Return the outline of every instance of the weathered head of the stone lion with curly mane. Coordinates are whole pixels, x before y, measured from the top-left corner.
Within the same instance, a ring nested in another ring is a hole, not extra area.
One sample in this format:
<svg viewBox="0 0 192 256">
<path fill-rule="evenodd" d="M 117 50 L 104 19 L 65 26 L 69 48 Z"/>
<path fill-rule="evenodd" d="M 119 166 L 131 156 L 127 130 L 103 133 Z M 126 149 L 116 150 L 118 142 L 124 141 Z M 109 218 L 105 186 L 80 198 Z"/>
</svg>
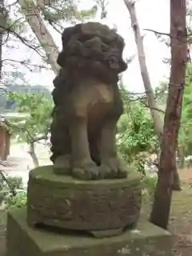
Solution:
<svg viewBox="0 0 192 256">
<path fill-rule="evenodd" d="M 58 65 L 83 74 L 119 74 L 126 70 L 122 59 L 123 38 L 98 22 L 68 27 L 62 33 Z"/>
</svg>

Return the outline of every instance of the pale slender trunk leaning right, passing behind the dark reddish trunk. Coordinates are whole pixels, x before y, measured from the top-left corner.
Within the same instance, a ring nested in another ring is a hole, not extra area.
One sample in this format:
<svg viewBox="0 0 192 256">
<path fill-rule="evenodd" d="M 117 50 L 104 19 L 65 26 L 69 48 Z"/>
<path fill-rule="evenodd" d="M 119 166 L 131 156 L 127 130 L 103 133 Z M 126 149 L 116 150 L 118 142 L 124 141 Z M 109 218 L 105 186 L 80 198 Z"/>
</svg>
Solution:
<svg viewBox="0 0 192 256">
<path fill-rule="evenodd" d="M 144 51 L 142 34 L 138 24 L 138 18 L 137 18 L 135 6 L 134 6 L 134 1 L 124 0 L 124 2 L 126 4 L 127 10 L 129 10 L 129 13 L 130 13 L 131 26 L 134 31 L 134 39 L 138 49 L 138 61 L 139 61 L 139 66 L 142 74 L 142 81 L 146 90 L 146 97 L 148 101 L 148 106 L 150 107 L 150 114 L 154 122 L 154 130 L 156 134 L 158 134 L 159 145 L 160 145 L 162 133 L 163 133 L 163 121 L 160 114 L 158 113 L 158 106 L 154 99 L 154 90 L 150 83 L 150 76 L 146 66 L 146 54 Z M 173 180 L 173 186 L 172 186 L 173 190 L 175 187 L 178 187 L 178 184 L 180 184 L 177 168 L 175 169 L 175 172 L 177 174 L 174 174 L 174 180 Z"/>
</svg>

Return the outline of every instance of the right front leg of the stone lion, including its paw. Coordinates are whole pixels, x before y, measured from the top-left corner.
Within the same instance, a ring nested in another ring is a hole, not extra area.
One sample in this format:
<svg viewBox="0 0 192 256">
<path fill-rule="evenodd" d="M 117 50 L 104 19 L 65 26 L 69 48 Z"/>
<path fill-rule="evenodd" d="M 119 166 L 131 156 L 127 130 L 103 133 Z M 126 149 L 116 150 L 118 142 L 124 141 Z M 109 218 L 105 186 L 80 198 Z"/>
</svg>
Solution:
<svg viewBox="0 0 192 256">
<path fill-rule="evenodd" d="M 126 162 L 118 158 L 115 142 L 117 119 L 107 120 L 102 126 L 101 166 L 102 178 L 126 178 Z"/>
</svg>

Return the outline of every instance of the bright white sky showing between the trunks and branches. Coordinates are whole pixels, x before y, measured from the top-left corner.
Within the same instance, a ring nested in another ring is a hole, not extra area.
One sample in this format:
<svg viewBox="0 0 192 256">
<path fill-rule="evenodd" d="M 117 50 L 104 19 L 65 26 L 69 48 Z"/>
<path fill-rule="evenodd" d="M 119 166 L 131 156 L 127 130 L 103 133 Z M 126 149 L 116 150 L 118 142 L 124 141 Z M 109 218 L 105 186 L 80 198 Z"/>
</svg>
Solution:
<svg viewBox="0 0 192 256">
<path fill-rule="evenodd" d="M 88 9 L 94 5 L 94 0 L 81 0 L 79 8 Z M 159 32 L 167 33 L 170 30 L 170 6 L 167 0 L 138 0 L 136 3 L 136 11 L 138 15 L 138 22 L 144 35 L 144 47 L 146 53 L 146 64 L 150 74 L 150 81 L 152 86 L 158 86 L 159 82 L 169 77 L 170 68 L 162 62 L 162 58 L 169 57 L 170 50 L 162 43 L 159 42 L 153 32 L 146 31 L 145 29 L 156 30 Z M 116 26 L 118 34 L 124 38 L 126 46 L 123 52 L 124 58 L 129 58 L 136 54 L 134 60 L 128 66 L 128 69 L 123 73 L 123 82 L 128 90 L 135 93 L 144 91 L 142 78 L 140 74 L 137 48 L 134 42 L 134 33 L 130 26 L 130 15 L 123 0 L 109 0 L 107 6 L 107 18 L 100 20 L 99 15 L 95 21 L 102 22 L 111 28 Z M 62 39 L 61 34 L 55 32 L 50 28 L 50 32 L 54 37 L 54 41 L 61 50 Z M 21 54 L 22 53 L 22 54 Z M 6 50 L 5 55 L 10 55 L 10 50 Z M 22 50 L 19 45 L 18 49 L 14 49 L 14 56 L 18 59 L 30 58 L 34 63 L 41 64 L 42 60 L 37 54 L 32 53 L 26 48 Z M 31 84 L 41 84 L 48 89 L 53 89 L 52 81 L 54 73 L 50 70 L 41 70 L 41 72 L 33 72 L 25 70 L 26 80 Z"/>
</svg>

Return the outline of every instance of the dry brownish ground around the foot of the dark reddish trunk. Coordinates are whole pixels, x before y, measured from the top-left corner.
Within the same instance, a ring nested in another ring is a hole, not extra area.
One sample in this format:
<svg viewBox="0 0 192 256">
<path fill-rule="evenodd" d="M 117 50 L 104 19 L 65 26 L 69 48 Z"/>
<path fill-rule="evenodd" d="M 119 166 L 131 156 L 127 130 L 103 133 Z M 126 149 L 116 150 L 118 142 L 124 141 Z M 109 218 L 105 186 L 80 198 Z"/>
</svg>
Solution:
<svg viewBox="0 0 192 256">
<path fill-rule="evenodd" d="M 179 171 L 182 191 L 174 191 L 168 230 L 174 235 L 174 256 L 192 255 L 192 168 Z M 152 205 L 148 195 L 143 197 L 142 218 L 148 219 Z"/>
</svg>

